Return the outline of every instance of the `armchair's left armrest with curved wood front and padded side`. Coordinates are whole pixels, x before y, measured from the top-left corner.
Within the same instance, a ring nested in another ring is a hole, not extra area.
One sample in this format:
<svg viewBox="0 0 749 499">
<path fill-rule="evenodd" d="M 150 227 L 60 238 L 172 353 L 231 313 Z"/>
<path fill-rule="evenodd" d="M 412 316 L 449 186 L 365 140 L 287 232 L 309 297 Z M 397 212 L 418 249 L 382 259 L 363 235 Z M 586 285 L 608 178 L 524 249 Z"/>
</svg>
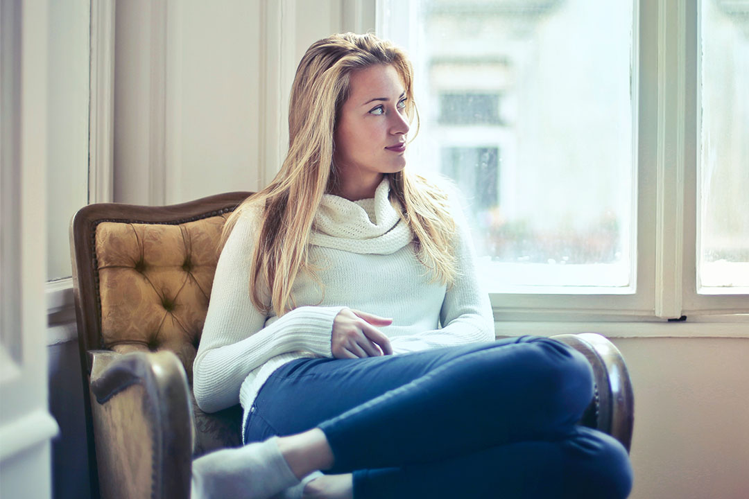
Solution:
<svg viewBox="0 0 749 499">
<path fill-rule="evenodd" d="M 92 352 L 91 413 L 102 498 L 189 499 L 192 408 L 172 352 Z"/>
</svg>

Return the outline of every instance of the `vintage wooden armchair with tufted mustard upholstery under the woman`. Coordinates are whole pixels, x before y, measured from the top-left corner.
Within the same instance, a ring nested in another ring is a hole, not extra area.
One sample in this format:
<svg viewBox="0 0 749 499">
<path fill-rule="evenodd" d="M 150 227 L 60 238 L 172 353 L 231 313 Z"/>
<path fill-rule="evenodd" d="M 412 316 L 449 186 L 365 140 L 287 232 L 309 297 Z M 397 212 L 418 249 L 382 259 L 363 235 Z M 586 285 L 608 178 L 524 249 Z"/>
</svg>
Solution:
<svg viewBox="0 0 749 499">
<path fill-rule="evenodd" d="M 205 414 L 192 396 L 217 243 L 249 192 L 173 206 L 100 203 L 73 217 L 70 245 L 91 491 L 102 498 L 189 498 L 191 462 L 240 445 L 239 405 Z M 598 334 L 557 340 L 593 366 L 596 396 L 581 423 L 629 449 L 630 379 Z"/>
</svg>

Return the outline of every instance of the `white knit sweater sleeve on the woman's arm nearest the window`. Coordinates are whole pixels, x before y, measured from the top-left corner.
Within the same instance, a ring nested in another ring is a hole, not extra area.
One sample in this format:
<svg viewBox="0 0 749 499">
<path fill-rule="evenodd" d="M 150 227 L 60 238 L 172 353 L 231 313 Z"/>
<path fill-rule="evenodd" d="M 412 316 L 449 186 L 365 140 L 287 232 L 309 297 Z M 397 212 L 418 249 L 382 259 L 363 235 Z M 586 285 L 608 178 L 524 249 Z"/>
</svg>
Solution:
<svg viewBox="0 0 749 499">
<path fill-rule="evenodd" d="M 457 272 L 440 309 L 439 329 L 392 339 L 393 353 L 419 352 L 440 346 L 494 341 L 494 316 L 488 294 L 479 286 L 470 230 L 457 200 L 453 199 Z"/>
</svg>

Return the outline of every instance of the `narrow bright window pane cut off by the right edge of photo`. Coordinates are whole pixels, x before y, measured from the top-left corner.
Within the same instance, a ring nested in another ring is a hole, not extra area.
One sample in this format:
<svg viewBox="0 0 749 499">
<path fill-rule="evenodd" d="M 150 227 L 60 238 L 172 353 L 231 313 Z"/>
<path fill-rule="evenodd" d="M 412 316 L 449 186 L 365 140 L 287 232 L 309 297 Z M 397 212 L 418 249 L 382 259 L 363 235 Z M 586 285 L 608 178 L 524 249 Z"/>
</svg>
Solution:
<svg viewBox="0 0 749 499">
<path fill-rule="evenodd" d="M 749 0 L 701 7 L 698 281 L 700 293 L 748 293 Z"/>
</svg>

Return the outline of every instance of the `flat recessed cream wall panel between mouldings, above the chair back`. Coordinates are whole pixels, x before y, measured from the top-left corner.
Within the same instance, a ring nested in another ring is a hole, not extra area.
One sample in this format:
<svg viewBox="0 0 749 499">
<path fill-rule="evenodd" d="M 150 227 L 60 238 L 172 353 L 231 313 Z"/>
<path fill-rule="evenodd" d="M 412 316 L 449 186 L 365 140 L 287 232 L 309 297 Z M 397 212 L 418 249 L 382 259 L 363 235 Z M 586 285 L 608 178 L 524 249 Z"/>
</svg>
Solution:
<svg viewBox="0 0 749 499">
<path fill-rule="evenodd" d="M 166 202 L 258 189 L 258 1 L 170 2 Z"/>
</svg>

